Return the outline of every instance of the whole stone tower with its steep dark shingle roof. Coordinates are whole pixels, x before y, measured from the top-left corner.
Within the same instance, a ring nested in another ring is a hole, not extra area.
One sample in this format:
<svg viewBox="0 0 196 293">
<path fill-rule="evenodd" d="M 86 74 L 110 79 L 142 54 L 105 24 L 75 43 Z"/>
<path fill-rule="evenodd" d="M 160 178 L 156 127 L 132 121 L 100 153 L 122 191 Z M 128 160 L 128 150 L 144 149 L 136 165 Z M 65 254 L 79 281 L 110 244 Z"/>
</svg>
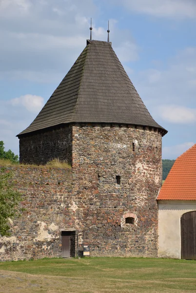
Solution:
<svg viewBox="0 0 196 293">
<path fill-rule="evenodd" d="M 22 131 L 20 162 L 72 165 L 78 251 L 157 256 L 161 138 L 110 42 L 90 41 Z M 69 229 L 69 227 L 67 227 Z"/>
</svg>

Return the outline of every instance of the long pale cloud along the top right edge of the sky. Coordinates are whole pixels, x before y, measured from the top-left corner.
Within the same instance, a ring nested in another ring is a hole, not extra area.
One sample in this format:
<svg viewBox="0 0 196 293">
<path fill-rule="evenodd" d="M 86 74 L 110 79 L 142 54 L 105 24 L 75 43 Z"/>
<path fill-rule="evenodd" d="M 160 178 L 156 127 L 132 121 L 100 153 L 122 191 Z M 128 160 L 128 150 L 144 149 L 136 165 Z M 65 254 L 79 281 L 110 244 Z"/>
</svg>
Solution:
<svg viewBox="0 0 196 293">
<path fill-rule="evenodd" d="M 155 17 L 196 17 L 195 0 L 121 0 L 120 3 L 131 12 L 135 11 Z"/>
</svg>

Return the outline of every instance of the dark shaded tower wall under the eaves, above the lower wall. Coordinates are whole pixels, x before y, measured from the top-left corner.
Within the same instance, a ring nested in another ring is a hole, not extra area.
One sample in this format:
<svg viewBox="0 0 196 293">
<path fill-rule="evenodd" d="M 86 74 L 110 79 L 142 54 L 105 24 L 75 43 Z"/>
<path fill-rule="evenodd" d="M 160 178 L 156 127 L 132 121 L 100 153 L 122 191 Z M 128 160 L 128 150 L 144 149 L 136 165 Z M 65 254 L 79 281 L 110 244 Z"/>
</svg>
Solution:
<svg viewBox="0 0 196 293">
<path fill-rule="evenodd" d="M 45 165 L 55 158 L 72 163 L 72 126 L 20 137 L 20 163 Z"/>
</svg>

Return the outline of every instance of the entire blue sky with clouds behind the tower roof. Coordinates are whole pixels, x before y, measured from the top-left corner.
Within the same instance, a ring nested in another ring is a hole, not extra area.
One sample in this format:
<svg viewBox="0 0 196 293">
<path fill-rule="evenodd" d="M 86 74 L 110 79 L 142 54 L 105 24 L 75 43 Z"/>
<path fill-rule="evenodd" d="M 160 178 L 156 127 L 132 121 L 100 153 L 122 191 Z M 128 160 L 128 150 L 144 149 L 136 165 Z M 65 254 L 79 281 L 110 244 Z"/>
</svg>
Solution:
<svg viewBox="0 0 196 293">
<path fill-rule="evenodd" d="M 153 118 L 163 158 L 196 143 L 195 0 L 0 0 L 0 140 L 34 120 L 90 36 L 110 41 Z"/>
</svg>

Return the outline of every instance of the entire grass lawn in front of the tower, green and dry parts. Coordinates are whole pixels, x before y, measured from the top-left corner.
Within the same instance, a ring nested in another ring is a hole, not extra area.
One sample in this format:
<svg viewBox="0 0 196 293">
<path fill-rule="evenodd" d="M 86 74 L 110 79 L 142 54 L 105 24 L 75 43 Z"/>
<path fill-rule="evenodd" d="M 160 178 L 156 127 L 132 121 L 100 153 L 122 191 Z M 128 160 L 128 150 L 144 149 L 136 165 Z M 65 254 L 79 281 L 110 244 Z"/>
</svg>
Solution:
<svg viewBox="0 0 196 293">
<path fill-rule="evenodd" d="M 0 293 L 196 292 L 196 261 L 42 259 L 0 263 Z"/>
</svg>

